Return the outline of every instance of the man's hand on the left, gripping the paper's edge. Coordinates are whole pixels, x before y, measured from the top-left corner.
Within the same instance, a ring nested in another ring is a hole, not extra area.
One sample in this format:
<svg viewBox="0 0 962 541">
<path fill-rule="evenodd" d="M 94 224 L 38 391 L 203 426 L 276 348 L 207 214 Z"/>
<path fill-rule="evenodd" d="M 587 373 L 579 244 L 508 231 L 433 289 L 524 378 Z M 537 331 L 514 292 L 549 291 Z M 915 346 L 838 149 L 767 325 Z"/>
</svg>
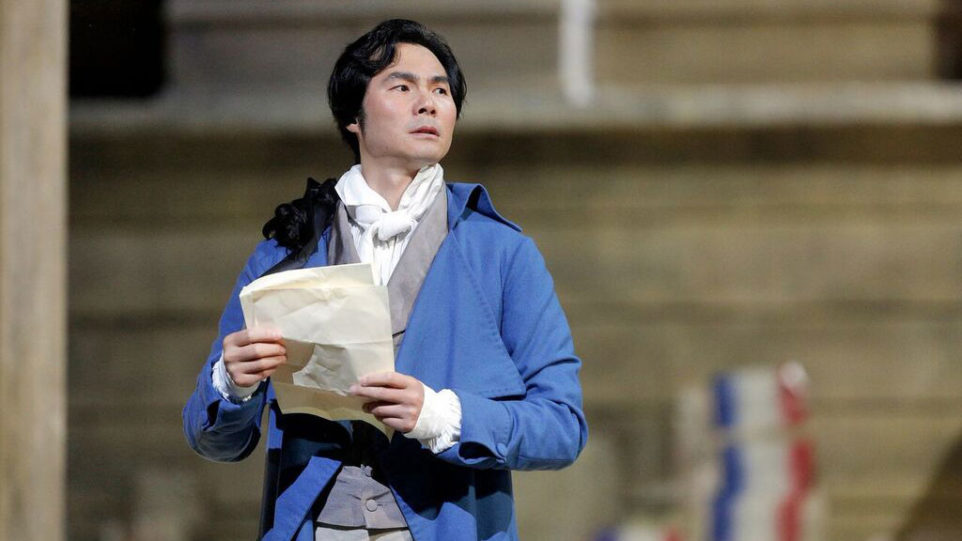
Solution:
<svg viewBox="0 0 962 541">
<path fill-rule="evenodd" d="M 239 387 L 267 379 L 286 361 L 287 349 L 277 329 L 252 327 L 224 337 L 224 368 Z"/>
</svg>

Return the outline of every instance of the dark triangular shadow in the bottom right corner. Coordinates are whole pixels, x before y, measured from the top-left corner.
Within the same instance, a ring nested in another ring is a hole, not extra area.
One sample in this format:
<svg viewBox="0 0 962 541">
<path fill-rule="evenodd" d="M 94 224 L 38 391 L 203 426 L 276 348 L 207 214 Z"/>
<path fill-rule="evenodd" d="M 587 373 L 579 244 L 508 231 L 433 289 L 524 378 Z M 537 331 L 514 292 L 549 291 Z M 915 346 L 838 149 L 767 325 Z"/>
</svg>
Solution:
<svg viewBox="0 0 962 541">
<path fill-rule="evenodd" d="M 899 528 L 898 541 L 957 541 L 962 539 L 962 435 L 935 471 L 925 494 Z"/>
</svg>

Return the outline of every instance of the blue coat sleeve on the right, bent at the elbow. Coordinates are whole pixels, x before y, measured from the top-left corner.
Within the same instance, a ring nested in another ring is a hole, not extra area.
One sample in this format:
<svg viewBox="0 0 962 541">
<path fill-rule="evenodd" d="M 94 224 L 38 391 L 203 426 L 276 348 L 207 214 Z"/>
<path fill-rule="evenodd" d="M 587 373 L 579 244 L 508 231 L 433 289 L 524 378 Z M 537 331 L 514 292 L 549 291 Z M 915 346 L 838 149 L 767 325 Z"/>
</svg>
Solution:
<svg viewBox="0 0 962 541">
<path fill-rule="evenodd" d="M 501 339 L 525 394 L 492 399 L 454 389 L 461 400 L 461 438 L 438 457 L 477 468 L 562 468 L 577 458 L 588 438 L 578 380 L 581 361 L 534 242 L 520 242 L 503 269 Z"/>
</svg>

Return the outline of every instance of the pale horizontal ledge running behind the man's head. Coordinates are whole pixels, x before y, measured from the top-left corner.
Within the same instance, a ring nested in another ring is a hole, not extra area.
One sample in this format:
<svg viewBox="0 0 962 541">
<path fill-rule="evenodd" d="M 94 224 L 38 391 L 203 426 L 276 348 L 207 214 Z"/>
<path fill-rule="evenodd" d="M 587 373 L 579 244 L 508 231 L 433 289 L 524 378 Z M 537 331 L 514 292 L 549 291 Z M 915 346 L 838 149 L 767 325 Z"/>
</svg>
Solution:
<svg viewBox="0 0 962 541">
<path fill-rule="evenodd" d="M 472 89 L 475 88 L 472 86 Z M 336 140 L 323 89 L 295 87 L 231 87 L 203 91 L 172 89 L 146 101 L 74 100 L 71 131 L 80 138 L 120 136 L 183 138 L 198 135 L 228 138 L 312 137 Z M 945 82 L 828 82 L 760 84 L 671 84 L 604 83 L 595 101 L 587 107 L 572 107 L 560 90 L 498 87 L 472 92 L 457 126 L 452 156 L 457 156 L 466 137 L 476 136 L 495 144 L 509 137 L 557 137 L 582 134 L 598 138 L 620 134 L 648 133 L 664 137 L 678 133 L 668 149 L 635 147 L 639 158 L 690 159 L 705 155 L 718 160 L 745 148 L 706 145 L 706 135 L 726 130 L 761 132 L 754 144 L 763 150 L 777 144 L 800 144 L 805 153 L 845 155 L 855 152 L 879 159 L 911 156 L 907 152 L 945 155 L 941 146 L 904 145 L 906 135 L 944 140 L 947 130 L 962 122 L 962 93 L 956 83 Z M 882 129 L 884 128 L 884 129 Z M 810 140 L 812 133 L 837 131 L 831 147 Z M 876 140 L 859 140 L 851 147 L 849 137 L 875 129 Z M 915 130 L 912 133 L 911 130 Z M 918 133 L 919 130 L 924 130 Z M 708 132 L 708 133 L 701 133 Z M 491 138 L 491 135 L 498 138 Z M 699 137 L 700 136 L 700 137 Z M 795 140 L 793 141 L 792 138 Z M 798 140 L 798 139 L 802 140 Z M 548 139 L 549 141 L 551 139 Z M 768 142 L 770 141 L 770 142 Z M 651 141 L 660 143 L 661 141 Z M 507 140 L 505 148 L 518 153 Z M 812 146 L 814 144 L 814 146 Z M 868 145 L 868 146 L 866 146 Z M 592 145 L 571 150 L 581 156 Z M 614 147 L 600 152 L 607 155 Z M 670 153 L 665 154 L 666 150 Z M 927 154 L 927 155 L 928 155 Z M 349 155 L 338 151 L 341 161 Z M 786 154 L 786 157 L 797 154 Z M 954 156 L 953 156 L 954 157 Z"/>
</svg>

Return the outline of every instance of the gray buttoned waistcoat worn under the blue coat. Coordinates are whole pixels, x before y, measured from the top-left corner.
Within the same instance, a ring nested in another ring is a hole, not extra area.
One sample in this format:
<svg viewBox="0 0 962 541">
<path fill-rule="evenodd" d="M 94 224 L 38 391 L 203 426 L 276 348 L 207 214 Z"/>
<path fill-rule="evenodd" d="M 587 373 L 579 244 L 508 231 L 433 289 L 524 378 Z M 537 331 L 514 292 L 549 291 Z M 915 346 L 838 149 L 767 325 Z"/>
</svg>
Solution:
<svg viewBox="0 0 962 541">
<path fill-rule="evenodd" d="M 447 215 L 447 196 L 442 190 L 411 234 L 411 240 L 388 280 L 395 353 L 404 337 L 414 299 L 421 290 L 434 255 L 447 235 Z M 338 204 L 331 228 L 328 261 L 334 265 L 360 261 L 343 204 Z M 387 440 L 367 423 L 357 421 L 352 424 L 354 446 L 361 447 L 356 453 L 359 465 L 344 465 L 341 468 L 317 515 L 317 521 L 356 528 L 406 527 L 394 494 L 380 481 L 381 476 L 373 460 L 374 448 L 386 446 Z"/>
</svg>

